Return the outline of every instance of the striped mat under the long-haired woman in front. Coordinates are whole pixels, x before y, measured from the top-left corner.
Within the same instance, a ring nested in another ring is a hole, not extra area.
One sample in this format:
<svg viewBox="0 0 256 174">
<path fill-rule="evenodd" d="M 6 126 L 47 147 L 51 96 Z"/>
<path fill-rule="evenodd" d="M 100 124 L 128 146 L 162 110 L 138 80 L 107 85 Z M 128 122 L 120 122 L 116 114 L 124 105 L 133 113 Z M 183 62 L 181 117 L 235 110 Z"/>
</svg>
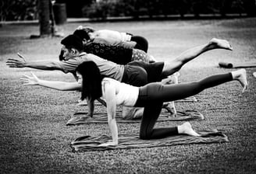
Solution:
<svg viewBox="0 0 256 174">
<path fill-rule="evenodd" d="M 99 137 L 83 136 L 72 141 L 70 147 L 73 152 L 76 151 L 105 151 L 116 149 L 132 149 L 132 148 L 154 148 L 180 144 L 212 144 L 227 142 L 228 137 L 217 130 L 197 131 L 202 134 L 201 137 L 189 136 L 187 134 L 179 134 L 175 136 L 165 137 L 162 139 L 141 140 L 138 134 L 119 134 L 119 144 L 117 146 L 98 147 L 99 144 L 112 141 L 112 137 L 101 135 Z"/>
</svg>

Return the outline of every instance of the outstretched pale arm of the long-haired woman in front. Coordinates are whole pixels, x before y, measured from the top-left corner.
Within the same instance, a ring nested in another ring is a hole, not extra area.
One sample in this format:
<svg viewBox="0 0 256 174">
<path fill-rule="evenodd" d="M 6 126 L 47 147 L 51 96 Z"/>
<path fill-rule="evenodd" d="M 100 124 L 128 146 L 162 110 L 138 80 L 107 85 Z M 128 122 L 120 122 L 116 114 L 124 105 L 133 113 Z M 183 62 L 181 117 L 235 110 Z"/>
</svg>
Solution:
<svg viewBox="0 0 256 174">
<path fill-rule="evenodd" d="M 20 78 L 22 82 L 24 82 L 23 85 L 41 85 L 50 89 L 57 89 L 60 91 L 73 91 L 73 90 L 80 90 L 81 85 L 77 82 L 59 82 L 59 81 L 47 81 L 47 80 L 41 80 L 37 78 L 36 75 L 34 75 L 31 72 L 32 76 L 24 75 L 25 78 Z"/>
</svg>

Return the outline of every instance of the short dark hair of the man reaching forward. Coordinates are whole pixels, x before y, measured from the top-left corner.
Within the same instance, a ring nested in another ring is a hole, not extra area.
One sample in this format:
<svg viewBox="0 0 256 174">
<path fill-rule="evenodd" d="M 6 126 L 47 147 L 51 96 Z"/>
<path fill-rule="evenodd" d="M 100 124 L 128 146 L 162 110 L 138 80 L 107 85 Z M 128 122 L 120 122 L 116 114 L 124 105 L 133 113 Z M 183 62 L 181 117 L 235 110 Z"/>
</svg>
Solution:
<svg viewBox="0 0 256 174">
<path fill-rule="evenodd" d="M 62 39 L 61 44 L 64 45 L 66 48 L 75 48 L 78 51 L 83 50 L 83 42 L 79 37 L 76 37 L 76 35 L 69 35 Z"/>
</svg>

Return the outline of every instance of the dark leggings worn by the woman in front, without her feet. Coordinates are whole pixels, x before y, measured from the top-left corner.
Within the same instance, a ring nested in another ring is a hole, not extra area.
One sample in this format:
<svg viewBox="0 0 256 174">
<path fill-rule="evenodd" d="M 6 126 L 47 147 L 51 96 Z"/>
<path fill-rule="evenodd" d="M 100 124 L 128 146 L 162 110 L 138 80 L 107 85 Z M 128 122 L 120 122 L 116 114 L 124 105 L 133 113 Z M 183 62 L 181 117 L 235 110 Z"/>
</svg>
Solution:
<svg viewBox="0 0 256 174">
<path fill-rule="evenodd" d="M 162 85 L 150 83 L 140 87 L 135 106 L 144 107 L 140 124 L 141 139 L 157 139 L 178 134 L 177 127 L 154 128 L 162 110 L 162 103 L 194 96 L 204 89 L 232 81 L 231 73 L 212 75 L 197 82 Z"/>
</svg>

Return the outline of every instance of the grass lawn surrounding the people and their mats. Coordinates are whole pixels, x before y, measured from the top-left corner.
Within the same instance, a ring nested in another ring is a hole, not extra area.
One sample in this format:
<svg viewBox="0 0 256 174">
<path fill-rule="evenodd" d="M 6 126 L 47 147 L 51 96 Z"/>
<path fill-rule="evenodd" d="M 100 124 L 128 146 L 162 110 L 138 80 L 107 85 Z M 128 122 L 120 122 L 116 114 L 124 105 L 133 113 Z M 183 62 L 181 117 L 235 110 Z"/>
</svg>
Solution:
<svg viewBox="0 0 256 174">
<path fill-rule="evenodd" d="M 186 64 L 180 82 L 231 71 L 219 61 L 256 62 L 256 18 L 223 20 L 171 20 L 119 23 L 67 23 L 66 35 L 78 25 L 141 35 L 149 41 L 149 54 L 168 61 L 182 51 L 206 44 L 212 37 L 229 40 L 233 51 L 212 50 Z M 218 129 L 229 137 L 222 144 L 188 144 L 162 148 L 73 153 L 69 143 L 84 134 L 110 134 L 107 124 L 67 127 L 66 121 L 86 106 L 76 106 L 79 92 L 59 92 L 23 86 L 22 75 L 73 82 L 61 71 L 8 68 L 7 57 L 20 52 L 27 60 L 58 61 L 62 38 L 30 40 L 37 25 L 0 27 L 0 173 L 255 173 L 256 172 L 256 68 L 247 68 L 249 89 L 238 82 L 207 89 L 197 103 L 176 103 L 177 110 L 198 110 L 206 120 L 190 121 L 195 130 Z M 103 112 L 97 106 L 95 112 Z M 175 126 L 181 121 L 158 123 Z M 139 132 L 139 124 L 119 124 L 119 133 Z"/>
</svg>

